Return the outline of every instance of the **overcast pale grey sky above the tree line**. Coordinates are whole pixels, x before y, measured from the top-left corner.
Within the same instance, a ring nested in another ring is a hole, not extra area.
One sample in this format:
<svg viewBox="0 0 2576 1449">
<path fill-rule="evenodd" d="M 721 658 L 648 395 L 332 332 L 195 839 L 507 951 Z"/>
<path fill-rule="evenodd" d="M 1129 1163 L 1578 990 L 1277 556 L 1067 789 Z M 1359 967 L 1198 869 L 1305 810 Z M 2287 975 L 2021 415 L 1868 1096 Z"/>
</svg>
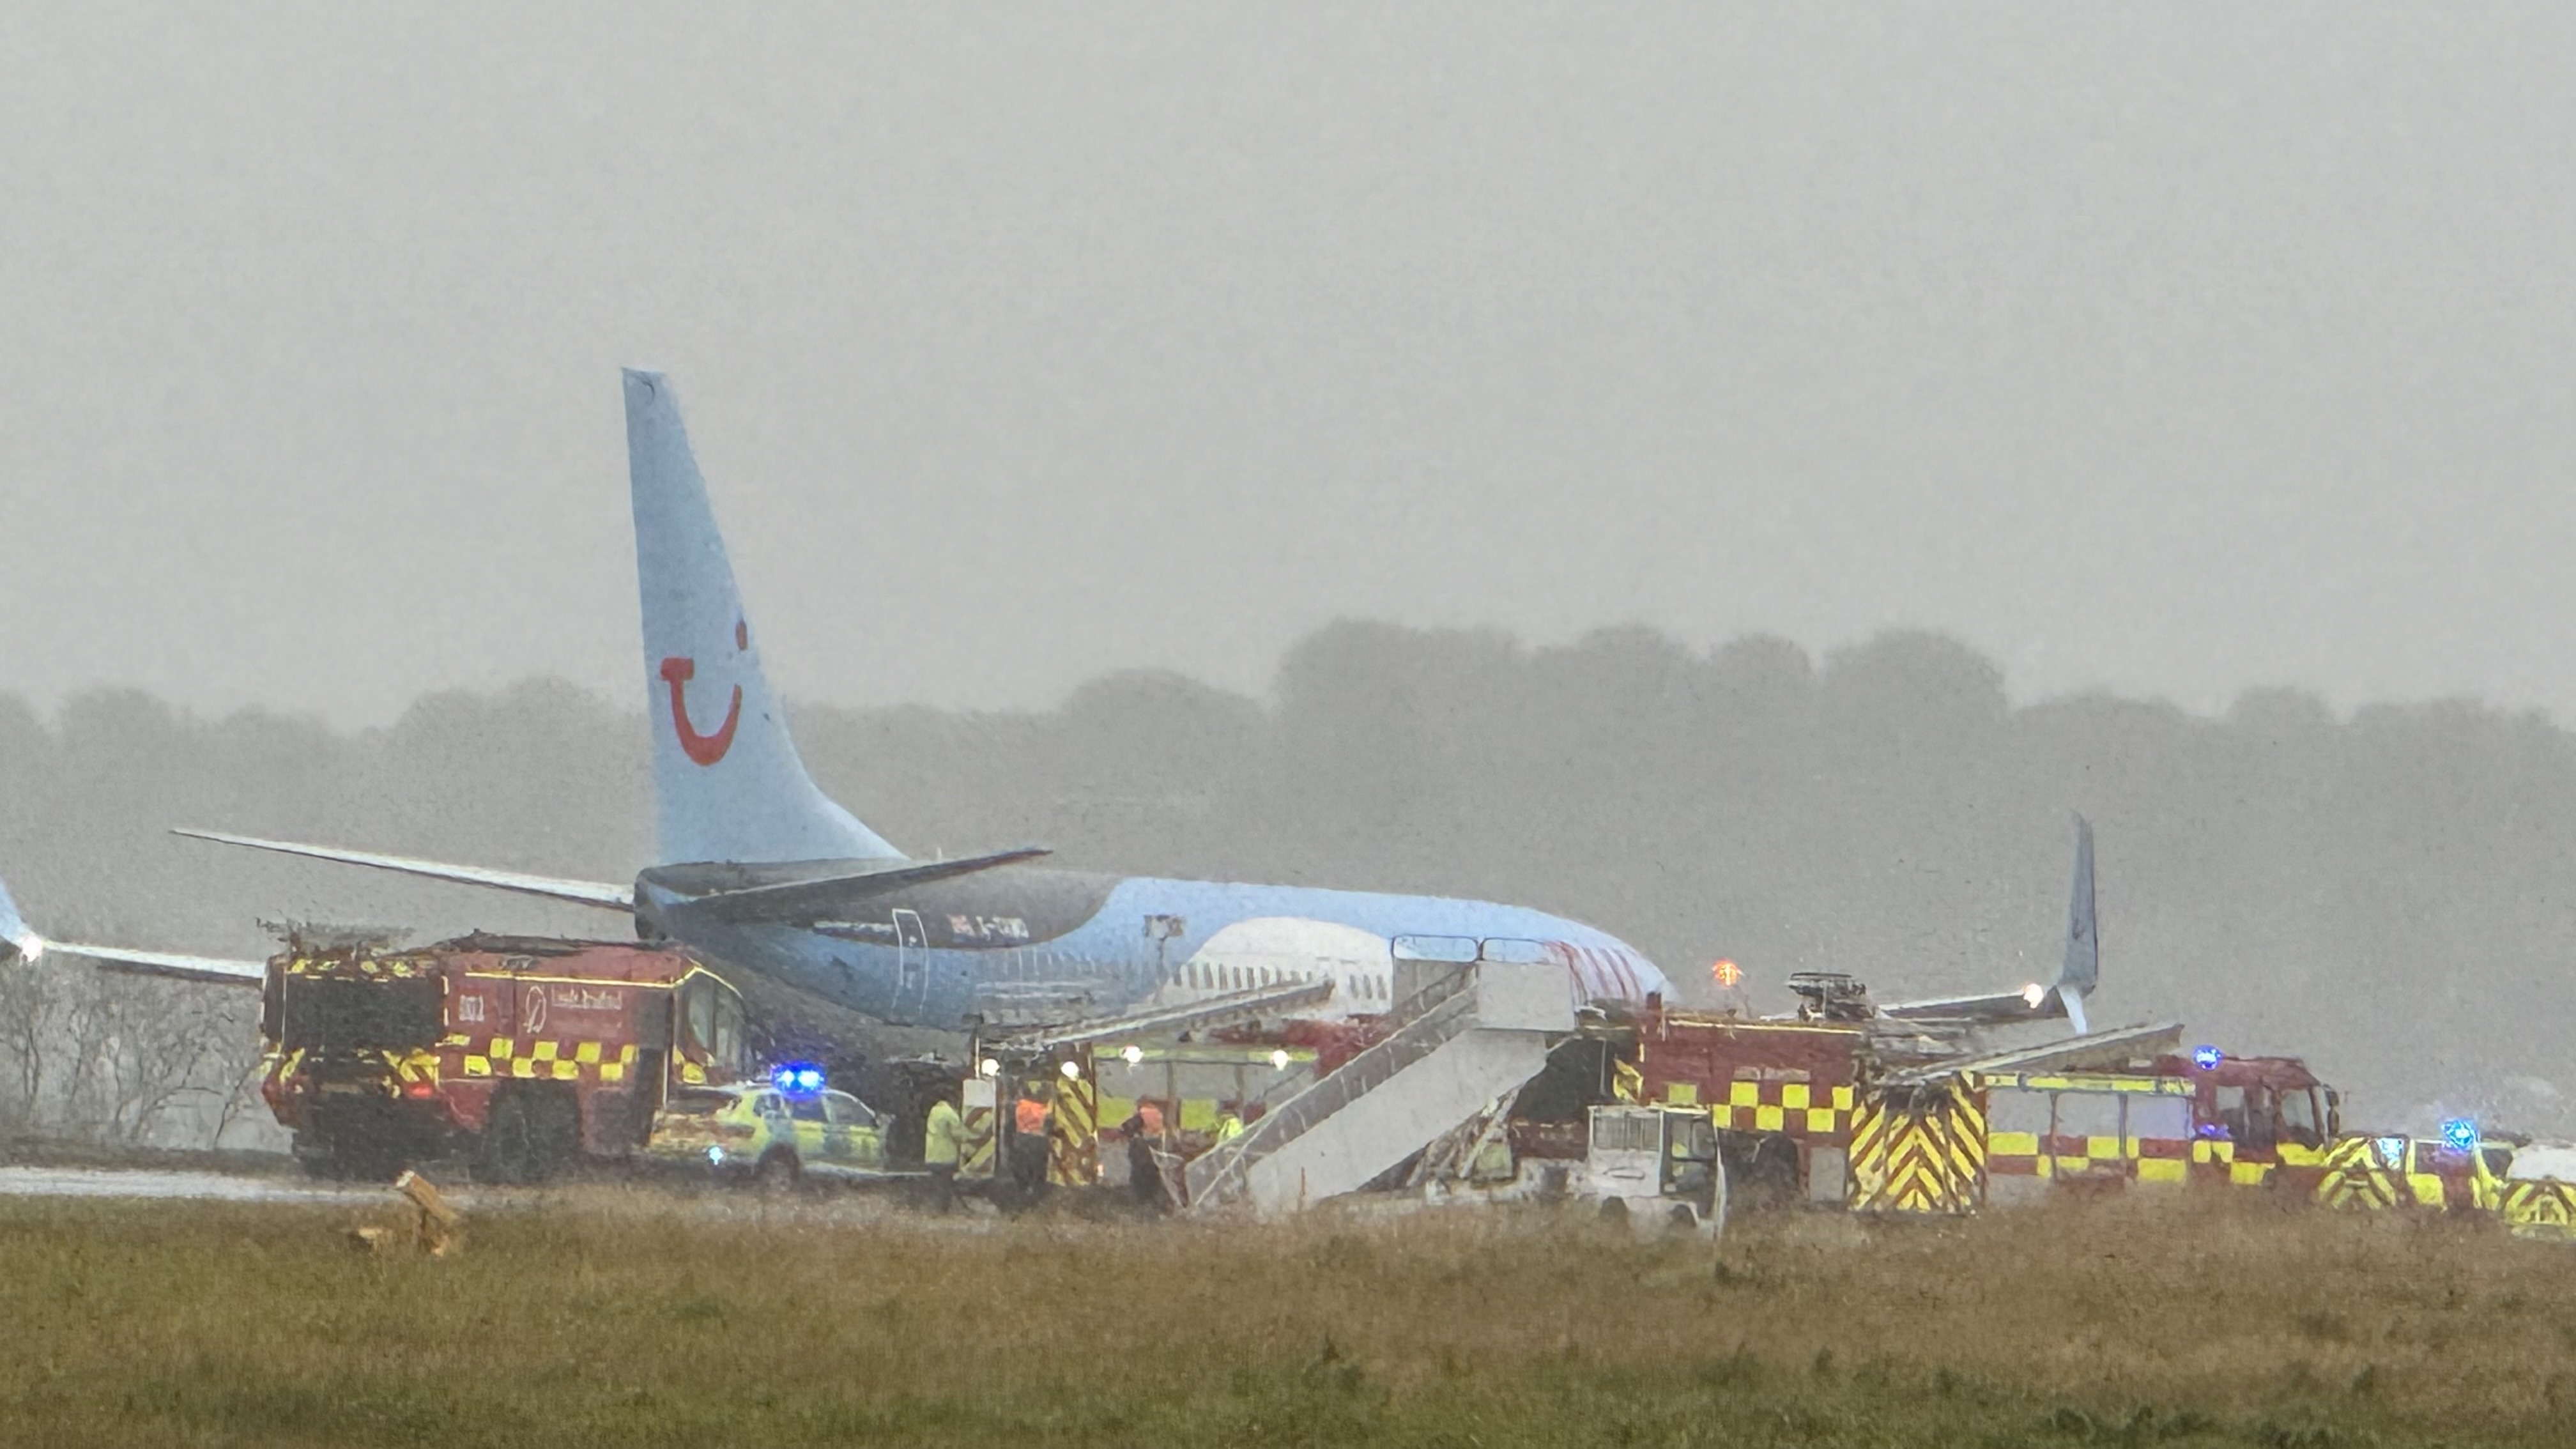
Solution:
<svg viewBox="0 0 2576 1449">
<path fill-rule="evenodd" d="M 2576 719 L 2576 8 L 10 5 L 0 688 L 1953 632 Z M 636 696 L 639 699 L 639 696 Z"/>
</svg>

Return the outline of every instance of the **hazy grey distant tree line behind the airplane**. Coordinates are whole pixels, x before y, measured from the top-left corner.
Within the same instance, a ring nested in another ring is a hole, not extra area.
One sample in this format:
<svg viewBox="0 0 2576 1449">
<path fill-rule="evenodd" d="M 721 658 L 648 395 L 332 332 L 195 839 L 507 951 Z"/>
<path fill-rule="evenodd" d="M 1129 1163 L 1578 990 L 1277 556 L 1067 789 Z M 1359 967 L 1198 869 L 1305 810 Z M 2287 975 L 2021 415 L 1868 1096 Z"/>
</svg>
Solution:
<svg viewBox="0 0 2576 1449">
<path fill-rule="evenodd" d="M 536 681 L 381 730 L 0 696 L 0 874 L 39 923 L 265 954 L 255 918 L 623 933 L 170 825 L 621 879 L 652 856 L 634 706 Z M 2071 815 L 2099 830 L 2097 1024 L 2298 1052 L 2354 1116 L 2478 1111 L 2566 1132 L 2576 740 L 2537 712 L 2257 691 L 2223 717 L 2076 696 L 2014 709 L 1935 634 L 1811 657 L 1646 629 L 1569 647 L 1337 624 L 1273 699 L 1164 673 L 1051 712 L 796 712 L 824 789 L 914 853 L 1515 900 L 1708 964 L 1842 969 L 1883 998 L 2045 980 Z"/>
</svg>

